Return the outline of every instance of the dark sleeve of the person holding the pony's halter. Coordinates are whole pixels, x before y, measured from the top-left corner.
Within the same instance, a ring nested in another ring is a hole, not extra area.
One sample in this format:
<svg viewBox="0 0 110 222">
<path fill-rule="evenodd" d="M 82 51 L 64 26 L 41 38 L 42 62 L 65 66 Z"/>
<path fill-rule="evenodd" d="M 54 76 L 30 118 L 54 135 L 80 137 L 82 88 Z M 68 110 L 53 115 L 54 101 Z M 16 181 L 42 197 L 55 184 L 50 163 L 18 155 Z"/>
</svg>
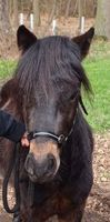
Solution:
<svg viewBox="0 0 110 222">
<path fill-rule="evenodd" d="M 0 137 L 19 142 L 24 132 L 26 127 L 23 123 L 16 121 L 12 115 L 0 110 Z"/>
</svg>

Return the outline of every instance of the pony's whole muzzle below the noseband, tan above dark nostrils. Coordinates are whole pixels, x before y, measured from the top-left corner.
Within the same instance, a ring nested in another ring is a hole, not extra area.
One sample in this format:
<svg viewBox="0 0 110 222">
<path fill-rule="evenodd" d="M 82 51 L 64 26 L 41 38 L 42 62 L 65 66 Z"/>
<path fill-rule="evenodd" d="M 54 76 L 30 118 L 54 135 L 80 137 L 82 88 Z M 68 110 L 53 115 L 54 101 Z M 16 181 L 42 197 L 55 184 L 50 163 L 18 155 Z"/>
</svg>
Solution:
<svg viewBox="0 0 110 222">
<path fill-rule="evenodd" d="M 40 138 L 41 140 L 41 138 Z M 60 167 L 58 144 L 53 141 L 31 140 L 30 151 L 27 155 L 24 168 L 33 182 L 43 183 L 51 181 Z"/>
</svg>

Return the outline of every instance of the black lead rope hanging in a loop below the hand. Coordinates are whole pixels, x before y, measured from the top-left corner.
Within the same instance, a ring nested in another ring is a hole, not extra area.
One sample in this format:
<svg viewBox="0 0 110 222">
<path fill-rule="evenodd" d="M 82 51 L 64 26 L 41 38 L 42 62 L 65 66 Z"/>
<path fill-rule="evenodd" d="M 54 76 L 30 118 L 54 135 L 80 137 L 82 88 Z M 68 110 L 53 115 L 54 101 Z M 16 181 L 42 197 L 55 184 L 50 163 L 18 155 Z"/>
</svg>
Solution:
<svg viewBox="0 0 110 222">
<path fill-rule="evenodd" d="M 13 149 L 10 162 L 9 162 L 8 171 L 3 179 L 2 202 L 3 202 L 3 208 L 8 213 L 17 213 L 20 210 L 19 167 L 20 167 L 20 143 L 14 145 L 14 149 Z M 13 169 L 14 169 L 16 204 L 11 209 L 8 203 L 8 184 L 9 184 L 9 180 L 10 180 Z"/>
</svg>

